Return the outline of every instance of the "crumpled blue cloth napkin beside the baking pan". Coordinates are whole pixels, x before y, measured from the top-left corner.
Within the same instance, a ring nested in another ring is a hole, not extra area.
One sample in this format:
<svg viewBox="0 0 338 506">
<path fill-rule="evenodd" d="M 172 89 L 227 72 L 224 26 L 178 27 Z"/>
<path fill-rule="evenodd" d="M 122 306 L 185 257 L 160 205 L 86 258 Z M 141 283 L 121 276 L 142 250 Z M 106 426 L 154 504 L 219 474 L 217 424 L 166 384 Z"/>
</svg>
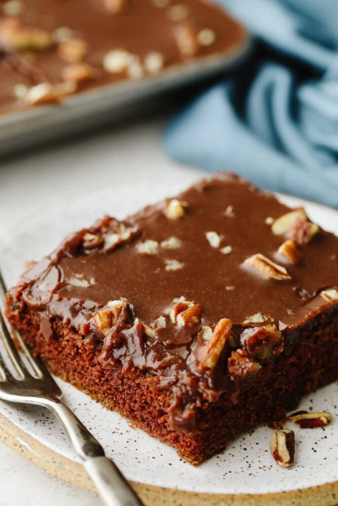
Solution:
<svg viewBox="0 0 338 506">
<path fill-rule="evenodd" d="M 218 3 L 263 43 L 241 72 L 169 122 L 165 149 L 183 163 L 338 207 L 338 1 Z"/>
</svg>

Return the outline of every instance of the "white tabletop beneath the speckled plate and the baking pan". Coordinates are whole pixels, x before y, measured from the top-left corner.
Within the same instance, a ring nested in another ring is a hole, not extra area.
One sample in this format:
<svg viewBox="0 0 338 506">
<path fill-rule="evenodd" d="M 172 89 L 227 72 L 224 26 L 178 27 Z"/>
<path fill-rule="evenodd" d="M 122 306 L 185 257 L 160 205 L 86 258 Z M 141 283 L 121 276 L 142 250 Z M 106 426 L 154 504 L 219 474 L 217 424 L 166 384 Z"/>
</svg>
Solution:
<svg viewBox="0 0 338 506">
<path fill-rule="evenodd" d="M 147 119 L 94 136 L 0 160 L 0 238 L 31 215 L 79 196 L 142 176 L 191 172 L 161 148 L 163 119 Z M 66 182 L 66 183 L 65 183 Z M 95 494 L 63 483 L 0 443 L 0 506 L 99 506 Z"/>
</svg>

